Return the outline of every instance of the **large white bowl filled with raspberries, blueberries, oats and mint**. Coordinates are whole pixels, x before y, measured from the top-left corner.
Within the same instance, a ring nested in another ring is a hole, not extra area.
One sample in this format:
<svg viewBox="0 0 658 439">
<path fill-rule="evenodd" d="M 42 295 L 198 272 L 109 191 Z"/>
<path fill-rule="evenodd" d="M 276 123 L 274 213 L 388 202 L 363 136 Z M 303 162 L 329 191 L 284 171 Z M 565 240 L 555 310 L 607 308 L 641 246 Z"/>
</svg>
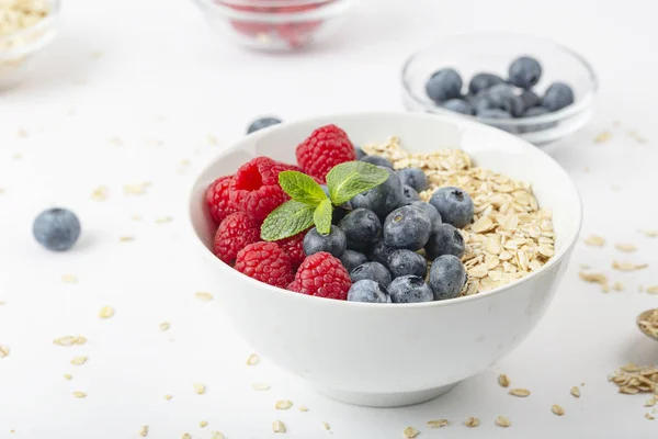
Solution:
<svg viewBox="0 0 658 439">
<path fill-rule="evenodd" d="M 401 406 L 540 322 L 581 224 L 544 151 L 447 115 L 259 126 L 201 171 L 189 211 L 223 311 L 264 358 L 333 398 Z"/>
</svg>

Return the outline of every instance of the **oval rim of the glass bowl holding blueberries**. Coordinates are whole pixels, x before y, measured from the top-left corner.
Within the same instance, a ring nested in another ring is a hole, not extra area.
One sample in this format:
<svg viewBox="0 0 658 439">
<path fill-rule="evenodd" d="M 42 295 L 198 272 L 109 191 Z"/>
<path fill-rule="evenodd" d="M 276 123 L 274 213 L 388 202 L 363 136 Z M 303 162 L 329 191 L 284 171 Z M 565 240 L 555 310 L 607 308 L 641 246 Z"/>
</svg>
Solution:
<svg viewBox="0 0 658 439">
<path fill-rule="evenodd" d="M 407 72 L 408 72 L 410 66 L 413 64 L 413 61 L 419 56 L 424 54 L 426 52 L 429 52 L 439 46 L 443 46 L 445 44 L 450 44 L 450 43 L 454 42 L 455 40 L 465 40 L 465 38 L 491 40 L 491 38 L 496 38 L 496 37 L 515 37 L 519 40 L 520 38 L 534 40 L 535 42 L 552 44 L 553 46 L 557 47 L 565 54 L 571 56 L 574 59 L 579 61 L 582 65 L 582 67 L 585 67 L 585 69 L 588 72 L 589 79 L 590 79 L 590 90 L 588 91 L 588 93 L 585 97 L 582 97 L 575 103 L 565 106 L 564 109 L 560 109 L 558 111 L 554 111 L 551 113 L 546 113 L 546 114 L 543 114 L 540 116 L 523 117 L 523 119 L 515 119 L 515 117 L 491 119 L 491 117 L 478 117 L 476 115 L 469 115 L 469 114 L 458 114 L 453 111 L 445 110 L 438 105 L 429 106 L 427 101 L 423 98 L 417 95 L 411 90 L 411 87 L 409 86 L 409 81 L 407 81 Z M 554 40 L 547 38 L 547 37 L 523 34 L 523 33 L 518 33 L 518 32 L 465 32 L 465 33 L 458 33 L 458 34 L 454 34 L 454 35 L 441 38 L 438 42 L 435 42 L 434 44 L 432 44 L 431 46 L 427 46 L 420 50 L 417 50 L 413 54 L 411 54 L 409 57 L 407 57 L 407 59 L 405 60 L 405 64 L 402 65 L 400 79 L 401 79 L 402 89 L 405 90 L 406 95 L 408 95 L 413 102 L 416 102 L 417 104 L 419 104 L 427 111 L 431 111 L 435 114 L 458 114 L 461 117 L 468 119 L 472 121 L 478 121 L 478 122 L 485 123 L 487 125 L 494 125 L 494 126 L 504 125 L 504 126 L 509 126 L 509 127 L 520 127 L 520 126 L 546 124 L 546 123 L 551 123 L 551 122 L 559 122 L 559 121 L 566 120 L 568 117 L 571 117 L 574 115 L 577 115 L 579 113 L 582 113 L 589 106 L 592 105 L 594 95 L 597 94 L 597 91 L 599 90 L 599 77 L 597 76 L 594 68 L 578 52 L 571 49 L 570 47 L 565 46 L 564 44 L 557 43 Z"/>
</svg>

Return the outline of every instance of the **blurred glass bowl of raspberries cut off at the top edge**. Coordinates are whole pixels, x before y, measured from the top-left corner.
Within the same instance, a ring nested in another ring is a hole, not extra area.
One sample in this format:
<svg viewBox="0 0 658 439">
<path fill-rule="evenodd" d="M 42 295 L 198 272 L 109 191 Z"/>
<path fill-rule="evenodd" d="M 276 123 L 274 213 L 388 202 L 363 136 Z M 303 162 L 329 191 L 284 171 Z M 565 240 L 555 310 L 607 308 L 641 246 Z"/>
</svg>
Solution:
<svg viewBox="0 0 658 439">
<path fill-rule="evenodd" d="M 212 27 L 241 46 L 285 52 L 321 42 L 353 0 L 195 0 Z"/>
</svg>

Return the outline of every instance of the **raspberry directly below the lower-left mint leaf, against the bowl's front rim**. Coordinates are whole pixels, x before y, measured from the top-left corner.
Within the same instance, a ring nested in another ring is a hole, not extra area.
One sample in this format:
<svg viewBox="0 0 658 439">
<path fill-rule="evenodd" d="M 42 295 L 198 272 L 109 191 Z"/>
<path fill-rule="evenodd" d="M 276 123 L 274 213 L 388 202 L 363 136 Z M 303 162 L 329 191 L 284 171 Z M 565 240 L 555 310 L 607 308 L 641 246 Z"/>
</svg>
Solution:
<svg viewBox="0 0 658 439">
<path fill-rule="evenodd" d="M 294 278 L 291 258 L 275 243 L 253 243 L 238 252 L 235 269 L 270 285 L 285 288 Z"/>
</svg>

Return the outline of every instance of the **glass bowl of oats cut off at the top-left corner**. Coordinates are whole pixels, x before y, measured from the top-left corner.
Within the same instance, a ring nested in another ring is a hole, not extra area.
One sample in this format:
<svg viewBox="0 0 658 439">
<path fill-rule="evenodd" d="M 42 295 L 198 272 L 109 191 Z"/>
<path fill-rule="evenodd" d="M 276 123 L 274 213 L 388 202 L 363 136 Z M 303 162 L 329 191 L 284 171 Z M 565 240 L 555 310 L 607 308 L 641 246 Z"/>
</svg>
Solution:
<svg viewBox="0 0 658 439">
<path fill-rule="evenodd" d="M 0 0 L 0 90 L 16 86 L 57 34 L 59 0 Z"/>
</svg>

